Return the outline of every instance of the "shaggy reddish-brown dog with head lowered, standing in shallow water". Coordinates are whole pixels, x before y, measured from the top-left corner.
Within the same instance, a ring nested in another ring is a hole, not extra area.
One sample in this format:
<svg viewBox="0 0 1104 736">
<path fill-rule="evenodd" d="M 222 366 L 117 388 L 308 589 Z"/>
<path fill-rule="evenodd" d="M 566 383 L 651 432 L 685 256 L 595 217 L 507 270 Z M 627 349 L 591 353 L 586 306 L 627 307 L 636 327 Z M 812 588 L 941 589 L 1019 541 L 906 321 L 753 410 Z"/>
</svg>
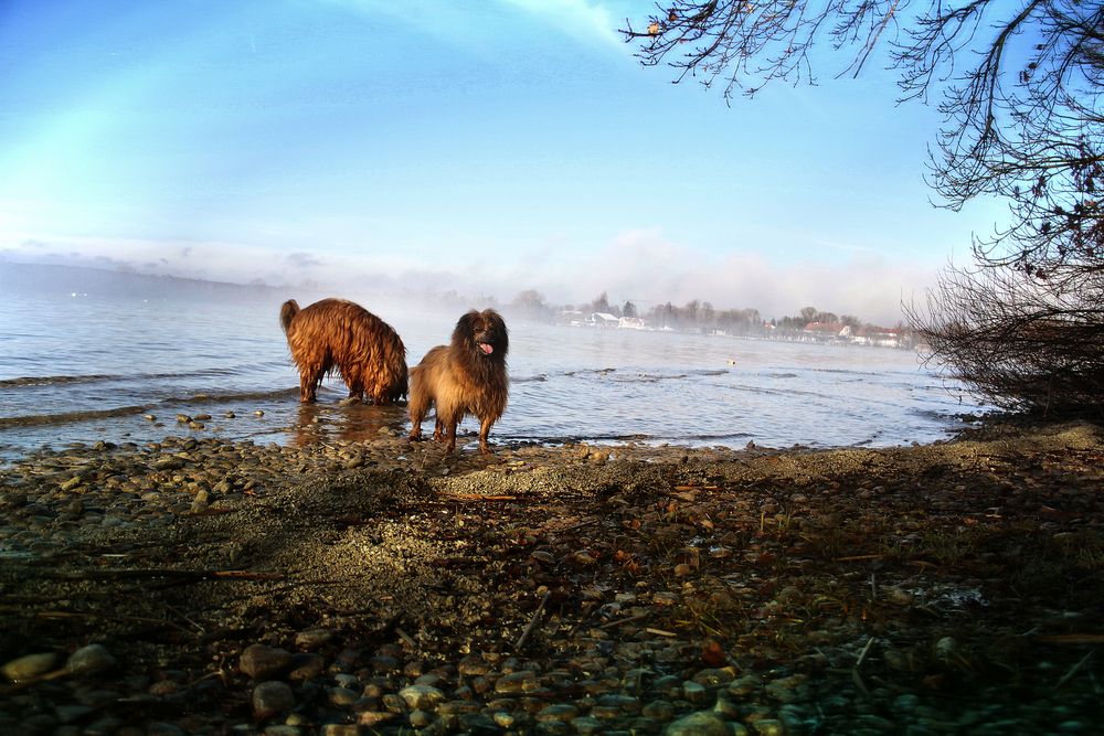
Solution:
<svg viewBox="0 0 1104 736">
<path fill-rule="evenodd" d="M 339 371 L 349 397 L 392 404 L 406 395 L 406 348 L 390 324 L 360 305 L 322 299 L 279 310 L 291 360 L 299 369 L 299 401 L 314 402 L 322 377 Z"/>
</svg>

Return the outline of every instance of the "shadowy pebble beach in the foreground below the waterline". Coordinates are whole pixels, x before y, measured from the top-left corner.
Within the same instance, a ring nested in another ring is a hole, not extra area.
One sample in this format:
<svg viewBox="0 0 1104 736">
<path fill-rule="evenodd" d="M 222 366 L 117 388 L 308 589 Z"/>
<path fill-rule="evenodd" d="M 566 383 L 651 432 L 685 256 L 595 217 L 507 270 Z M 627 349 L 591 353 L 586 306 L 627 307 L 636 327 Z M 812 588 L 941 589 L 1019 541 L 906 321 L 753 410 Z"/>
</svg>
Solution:
<svg viewBox="0 0 1104 736">
<path fill-rule="evenodd" d="M 0 730 L 1095 728 L 1096 426 L 474 447 L 384 428 L 6 463 Z"/>
</svg>

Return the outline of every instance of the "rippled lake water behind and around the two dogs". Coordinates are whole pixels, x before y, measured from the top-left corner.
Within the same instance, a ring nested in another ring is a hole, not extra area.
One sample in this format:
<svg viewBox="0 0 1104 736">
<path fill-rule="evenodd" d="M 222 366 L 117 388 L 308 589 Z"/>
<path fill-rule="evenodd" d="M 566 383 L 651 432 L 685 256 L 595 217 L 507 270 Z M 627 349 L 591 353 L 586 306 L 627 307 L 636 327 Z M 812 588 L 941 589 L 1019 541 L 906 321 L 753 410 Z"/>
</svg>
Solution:
<svg viewBox="0 0 1104 736">
<path fill-rule="evenodd" d="M 390 322 L 411 365 L 464 311 L 335 296 Z M 287 298 L 314 300 L 0 263 L 0 457 L 167 435 L 304 442 L 407 431 L 402 408 L 340 404 L 340 377 L 317 405 L 299 404 L 277 320 Z M 910 351 L 508 323 L 510 404 L 492 441 L 885 447 L 946 438 L 958 415 L 979 410 Z M 178 414 L 212 418 L 189 429 Z M 461 425 L 465 436 L 476 429 Z"/>
</svg>

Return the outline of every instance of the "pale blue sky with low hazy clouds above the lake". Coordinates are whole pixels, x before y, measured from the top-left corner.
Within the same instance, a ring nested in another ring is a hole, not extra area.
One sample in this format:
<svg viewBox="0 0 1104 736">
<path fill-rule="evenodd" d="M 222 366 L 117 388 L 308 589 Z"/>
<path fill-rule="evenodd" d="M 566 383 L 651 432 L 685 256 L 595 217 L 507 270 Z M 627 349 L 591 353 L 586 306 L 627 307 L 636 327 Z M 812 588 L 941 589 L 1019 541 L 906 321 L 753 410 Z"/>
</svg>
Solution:
<svg viewBox="0 0 1104 736">
<path fill-rule="evenodd" d="M 3 0 L 0 260 L 893 324 L 999 221 L 933 206 L 891 72 L 725 104 L 652 8 Z"/>
</svg>

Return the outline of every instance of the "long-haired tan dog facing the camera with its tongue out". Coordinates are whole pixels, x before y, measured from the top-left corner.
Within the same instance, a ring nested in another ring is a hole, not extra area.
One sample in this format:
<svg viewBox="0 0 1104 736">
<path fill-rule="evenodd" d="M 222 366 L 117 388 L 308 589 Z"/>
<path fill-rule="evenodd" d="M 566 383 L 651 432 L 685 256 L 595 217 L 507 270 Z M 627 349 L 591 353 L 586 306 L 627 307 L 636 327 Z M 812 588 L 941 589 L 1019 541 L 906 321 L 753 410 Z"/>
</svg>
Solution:
<svg viewBox="0 0 1104 736">
<path fill-rule="evenodd" d="M 446 452 L 456 448 L 456 426 L 474 414 L 479 418 L 479 451 L 490 454 L 487 435 L 506 410 L 510 390 L 509 348 L 506 322 L 493 309 L 473 309 L 460 317 L 452 342 L 432 349 L 411 369 L 410 438 L 422 439 L 422 422 L 435 405 L 433 438 L 447 437 Z"/>
</svg>

